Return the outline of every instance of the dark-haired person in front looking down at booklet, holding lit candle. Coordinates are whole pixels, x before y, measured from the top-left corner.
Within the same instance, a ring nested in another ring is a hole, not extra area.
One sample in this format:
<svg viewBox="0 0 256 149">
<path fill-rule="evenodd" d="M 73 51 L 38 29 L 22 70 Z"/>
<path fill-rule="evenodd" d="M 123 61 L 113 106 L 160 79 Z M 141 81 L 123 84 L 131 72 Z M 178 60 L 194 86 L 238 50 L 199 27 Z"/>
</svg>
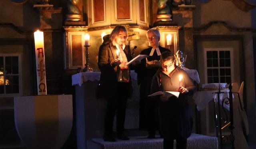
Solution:
<svg viewBox="0 0 256 149">
<path fill-rule="evenodd" d="M 187 138 L 192 131 L 192 116 L 188 105 L 188 95 L 196 88 L 188 74 L 175 65 L 174 56 L 170 52 L 161 55 L 162 68 L 156 72 L 151 84 L 151 93 L 157 91 L 179 91 L 180 95 L 168 97 L 154 96 L 160 100 L 160 130 L 164 137 L 164 149 L 186 149 Z M 182 76 L 182 77 L 180 77 Z"/>
</svg>

